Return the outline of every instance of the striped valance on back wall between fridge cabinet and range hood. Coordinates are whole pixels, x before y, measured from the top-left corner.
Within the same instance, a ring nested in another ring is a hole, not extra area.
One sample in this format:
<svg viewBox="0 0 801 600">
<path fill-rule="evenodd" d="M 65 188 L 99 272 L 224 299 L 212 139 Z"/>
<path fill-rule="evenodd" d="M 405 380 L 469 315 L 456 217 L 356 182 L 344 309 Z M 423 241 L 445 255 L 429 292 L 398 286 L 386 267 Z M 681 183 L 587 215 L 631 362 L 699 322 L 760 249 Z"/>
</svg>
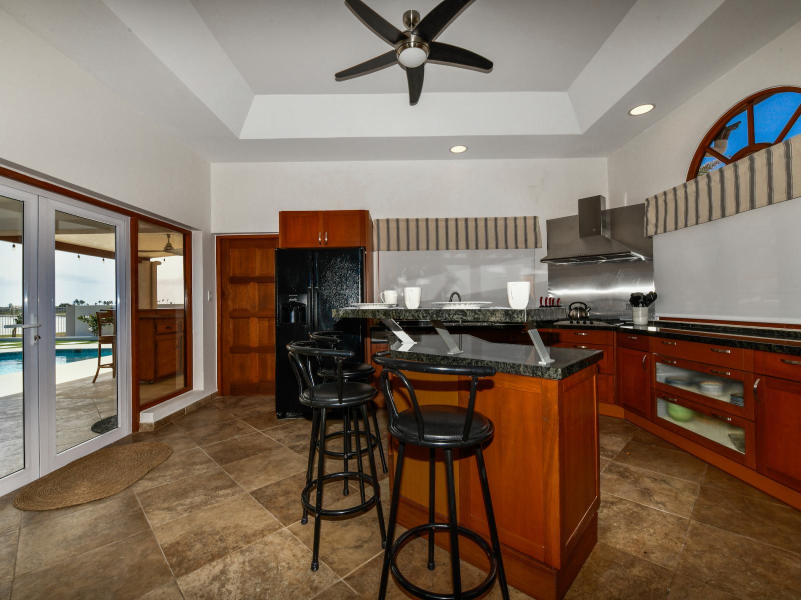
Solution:
<svg viewBox="0 0 801 600">
<path fill-rule="evenodd" d="M 377 218 L 376 250 L 541 248 L 538 217 Z"/>
</svg>

